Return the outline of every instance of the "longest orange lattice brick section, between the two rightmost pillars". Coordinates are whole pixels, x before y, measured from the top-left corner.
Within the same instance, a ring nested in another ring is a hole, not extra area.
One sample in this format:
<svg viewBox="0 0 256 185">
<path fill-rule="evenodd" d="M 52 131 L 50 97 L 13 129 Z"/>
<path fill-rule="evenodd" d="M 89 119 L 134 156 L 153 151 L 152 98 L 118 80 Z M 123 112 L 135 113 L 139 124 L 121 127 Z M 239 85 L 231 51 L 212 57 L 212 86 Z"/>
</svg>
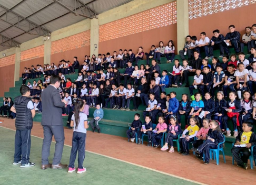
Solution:
<svg viewBox="0 0 256 185">
<path fill-rule="evenodd" d="M 101 25 L 100 42 L 136 34 L 177 22 L 176 1 Z"/>
</svg>

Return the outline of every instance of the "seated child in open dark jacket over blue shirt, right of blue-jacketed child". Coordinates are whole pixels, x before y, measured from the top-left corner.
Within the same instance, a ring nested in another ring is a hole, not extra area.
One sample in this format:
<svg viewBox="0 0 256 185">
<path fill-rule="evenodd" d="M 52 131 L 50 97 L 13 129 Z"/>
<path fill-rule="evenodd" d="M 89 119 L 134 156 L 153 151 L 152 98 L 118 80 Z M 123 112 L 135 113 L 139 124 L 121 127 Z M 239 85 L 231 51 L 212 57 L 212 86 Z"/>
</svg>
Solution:
<svg viewBox="0 0 256 185">
<path fill-rule="evenodd" d="M 176 114 L 176 117 L 178 119 L 178 124 L 181 125 L 181 115 L 184 115 L 185 116 L 185 128 L 187 128 L 189 126 L 188 117 L 189 117 L 189 113 L 191 111 L 191 107 L 190 107 L 191 102 L 189 101 L 188 94 L 182 94 L 181 99 L 182 100 L 180 101 L 179 109 L 178 109 L 178 113 Z"/>
</svg>

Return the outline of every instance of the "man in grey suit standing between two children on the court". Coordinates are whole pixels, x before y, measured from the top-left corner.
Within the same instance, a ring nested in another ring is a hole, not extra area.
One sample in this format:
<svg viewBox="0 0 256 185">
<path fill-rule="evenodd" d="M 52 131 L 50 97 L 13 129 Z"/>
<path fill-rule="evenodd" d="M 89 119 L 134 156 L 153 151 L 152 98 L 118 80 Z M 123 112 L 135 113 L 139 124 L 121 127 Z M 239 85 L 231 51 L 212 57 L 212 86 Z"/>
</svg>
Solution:
<svg viewBox="0 0 256 185">
<path fill-rule="evenodd" d="M 64 146 L 64 128 L 62 121 L 62 107 L 65 106 L 66 101 L 61 100 L 60 92 L 57 88 L 60 87 L 61 78 L 57 75 L 52 75 L 50 79 L 50 85 L 42 93 L 42 123 L 44 129 L 44 140 L 42 146 L 42 169 L 62 169 L 67 165 L 61 164 L 63 146 Z M 52 137 L 54 136 L 55 153 L 53 158 L 53 164 L 51 165 L 48 157 L 50 155 L 50 147 L 52 143 Z"/>
</svg>

